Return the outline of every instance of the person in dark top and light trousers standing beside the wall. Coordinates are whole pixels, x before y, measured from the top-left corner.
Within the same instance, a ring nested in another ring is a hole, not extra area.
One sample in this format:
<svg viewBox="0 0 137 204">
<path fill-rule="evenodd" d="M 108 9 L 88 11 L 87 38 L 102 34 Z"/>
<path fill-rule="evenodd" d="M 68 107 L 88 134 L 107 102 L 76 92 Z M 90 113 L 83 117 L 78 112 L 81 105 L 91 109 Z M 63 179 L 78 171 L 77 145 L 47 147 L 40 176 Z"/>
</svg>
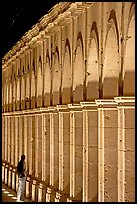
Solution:
<svg viewBox="0 0 137 204">
<path fill-rule="evenodd" d="M 26 182 L 26 162 L 25 155 L 21 155 L 21 160 L 17 165 L 18 174 L 18 189 L 17 189 L 17 202 L 24 200 L 25 182 Z"/>
</svg>

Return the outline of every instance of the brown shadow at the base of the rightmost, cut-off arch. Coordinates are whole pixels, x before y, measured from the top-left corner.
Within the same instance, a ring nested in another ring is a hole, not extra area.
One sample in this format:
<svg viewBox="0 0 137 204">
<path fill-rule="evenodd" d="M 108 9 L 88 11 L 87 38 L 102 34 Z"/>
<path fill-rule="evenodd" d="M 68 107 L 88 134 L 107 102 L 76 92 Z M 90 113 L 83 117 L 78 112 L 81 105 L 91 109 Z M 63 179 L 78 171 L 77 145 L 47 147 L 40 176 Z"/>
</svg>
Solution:
<svg viewBox="0 0 137 204">
<path fill-rule="evenodd" d="M 126 72 L 123 82 L 123 95 L 134 96 L 135 95 L 135 72 Z"/>
</svg>

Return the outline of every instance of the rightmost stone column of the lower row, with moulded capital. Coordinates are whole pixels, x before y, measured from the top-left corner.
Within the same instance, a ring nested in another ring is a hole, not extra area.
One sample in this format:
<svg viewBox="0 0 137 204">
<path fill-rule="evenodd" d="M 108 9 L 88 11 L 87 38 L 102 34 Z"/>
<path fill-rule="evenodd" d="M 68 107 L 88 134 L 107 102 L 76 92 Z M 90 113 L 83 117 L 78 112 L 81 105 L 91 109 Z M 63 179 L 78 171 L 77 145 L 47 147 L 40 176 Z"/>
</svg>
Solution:
<svg viewBox="0 0 137 204">
<path fill-rule="evenodd" d="M 118 202 L 135 201 L 135 98 L 118 103 Z"/>
</svg>

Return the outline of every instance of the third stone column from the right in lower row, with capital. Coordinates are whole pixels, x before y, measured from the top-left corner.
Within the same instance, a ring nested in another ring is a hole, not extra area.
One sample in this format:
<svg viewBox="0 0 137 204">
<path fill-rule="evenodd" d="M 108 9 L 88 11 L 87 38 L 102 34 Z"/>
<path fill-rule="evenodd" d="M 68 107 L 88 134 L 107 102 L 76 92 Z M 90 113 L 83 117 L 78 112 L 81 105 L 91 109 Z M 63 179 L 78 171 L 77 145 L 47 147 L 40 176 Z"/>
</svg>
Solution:
<svg viewBox="0 0 137 204">
<path fill-rule="evenodd" d="M 98 111 L 95 102 L 83 107 L 83 202 L 98 198 Z M 92 189 L 92 190 L 91 190 Z"/>
</svg>

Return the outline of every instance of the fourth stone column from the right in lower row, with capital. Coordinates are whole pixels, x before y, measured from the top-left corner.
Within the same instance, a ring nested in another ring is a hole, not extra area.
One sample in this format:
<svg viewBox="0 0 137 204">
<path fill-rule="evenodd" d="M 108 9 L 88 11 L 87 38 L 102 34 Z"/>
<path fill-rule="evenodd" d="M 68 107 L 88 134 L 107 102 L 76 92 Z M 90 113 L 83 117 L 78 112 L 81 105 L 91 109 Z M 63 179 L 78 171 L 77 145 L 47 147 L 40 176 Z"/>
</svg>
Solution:
<svg viewBox="0 0 137 204">
<path fill-rule="evenodd" d="M 83 188 L 83 117 L 81 106 L 70 108 L 70 197 L 82 200 Z"/>
</svg>

